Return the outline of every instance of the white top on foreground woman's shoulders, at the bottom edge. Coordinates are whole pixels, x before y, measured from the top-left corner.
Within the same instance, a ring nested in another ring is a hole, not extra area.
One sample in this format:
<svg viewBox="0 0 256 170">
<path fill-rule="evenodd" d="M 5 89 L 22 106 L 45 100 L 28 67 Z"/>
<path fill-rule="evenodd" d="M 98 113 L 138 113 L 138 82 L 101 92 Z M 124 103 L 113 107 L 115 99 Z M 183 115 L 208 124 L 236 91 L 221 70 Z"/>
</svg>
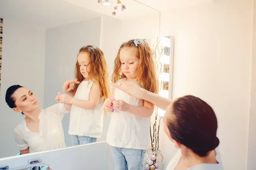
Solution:
<svg viewBox="0 0 256 170">
<path fill-rule="evenodd" d="M 222 161 L 221 161 L 221 154 L 220 154 L 220 151 L 218 150 L 218 147 L 215 148 L 215 152 L 216 152 L 215 158 L 218 164 L 198 164 L 186 170 L 224 170 L 222 166 Z M 172 158 L 172 160 L 168 164 L 168 166 L 166 167 L 166 170 L 174 170 L 177 164 L 179 163 L 180 158 L 181 158 L 181 152 L 180 150 L 178 150 L 175 156 Z"/>
</svg>

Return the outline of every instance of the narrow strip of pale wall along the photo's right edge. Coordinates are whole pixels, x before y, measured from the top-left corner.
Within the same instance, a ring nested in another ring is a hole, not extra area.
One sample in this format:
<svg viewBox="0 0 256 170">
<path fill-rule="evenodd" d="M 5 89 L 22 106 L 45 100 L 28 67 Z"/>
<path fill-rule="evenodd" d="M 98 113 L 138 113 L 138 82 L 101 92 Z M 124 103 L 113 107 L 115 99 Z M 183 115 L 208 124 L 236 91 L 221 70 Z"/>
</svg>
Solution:
<svg viewBox="0 0 256 170">
<path fill-rule="evenodd" d="M 253 3 L 253 42 L 252 42 L 252 67 L 250 85 L 250 113 L 247 170 L 256 169 L 256 3 Z"/>
</svg>

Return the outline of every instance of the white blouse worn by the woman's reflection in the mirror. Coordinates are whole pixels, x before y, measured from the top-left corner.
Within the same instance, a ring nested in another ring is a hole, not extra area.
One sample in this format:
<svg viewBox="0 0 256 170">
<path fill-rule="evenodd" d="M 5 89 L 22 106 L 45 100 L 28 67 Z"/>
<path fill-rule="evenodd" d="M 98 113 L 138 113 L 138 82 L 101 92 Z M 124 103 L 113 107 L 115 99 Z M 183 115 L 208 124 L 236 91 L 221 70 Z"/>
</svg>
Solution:
<svg viewBox="0 0 256 170">
<path fill-rule="evenodd" d="M 15 140 L 20 150 L 29 147 L 29 152 L 34 153 L 66 147 L 61 121 L 67 112 L 64 104 L 54 104 L 41 109 L 38 116 L 39 133 L 32 133 L 23 119 L 14 129 Z"/>
</svg>

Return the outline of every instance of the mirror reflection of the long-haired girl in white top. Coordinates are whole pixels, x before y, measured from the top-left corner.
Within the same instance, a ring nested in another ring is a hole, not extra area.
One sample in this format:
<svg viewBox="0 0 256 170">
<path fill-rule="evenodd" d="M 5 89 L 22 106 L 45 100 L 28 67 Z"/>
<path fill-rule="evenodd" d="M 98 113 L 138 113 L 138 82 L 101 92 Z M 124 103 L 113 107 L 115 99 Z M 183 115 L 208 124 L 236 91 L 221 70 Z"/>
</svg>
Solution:
<svg viewBox="0 0 256 170">
<path fill-rule="evenodd" d="M 77 55 L 76 80 L 67 81 L 58 95 L 60 103 L 71 104 L 68 133 L 72 145 L 88 144 L 100 138 L 103 130 L 103 102 L 109 96 L 107 63 L 101 49 L 83 46 Z M 70 86 L 75 83 L 74 86 Z"/>
</svg>

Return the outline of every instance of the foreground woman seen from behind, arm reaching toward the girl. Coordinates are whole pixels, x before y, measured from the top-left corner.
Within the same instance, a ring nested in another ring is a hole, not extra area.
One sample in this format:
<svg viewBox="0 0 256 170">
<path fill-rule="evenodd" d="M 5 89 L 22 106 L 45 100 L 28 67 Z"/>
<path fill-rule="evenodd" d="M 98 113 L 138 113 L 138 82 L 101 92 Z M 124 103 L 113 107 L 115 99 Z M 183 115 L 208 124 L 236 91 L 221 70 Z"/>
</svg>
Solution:
<svg viewBox="0 0 256 170">
<path fill-rule="evenodd" d="M 191 95 L 171 101 L 137 84 L 120 83 L 122 86 L 113 86 L 166 110 L 164 130 L 179 149 L 166 170 L 223 170 L 216 137 L 217 118 L 206 102 Z"/>
</svg>

